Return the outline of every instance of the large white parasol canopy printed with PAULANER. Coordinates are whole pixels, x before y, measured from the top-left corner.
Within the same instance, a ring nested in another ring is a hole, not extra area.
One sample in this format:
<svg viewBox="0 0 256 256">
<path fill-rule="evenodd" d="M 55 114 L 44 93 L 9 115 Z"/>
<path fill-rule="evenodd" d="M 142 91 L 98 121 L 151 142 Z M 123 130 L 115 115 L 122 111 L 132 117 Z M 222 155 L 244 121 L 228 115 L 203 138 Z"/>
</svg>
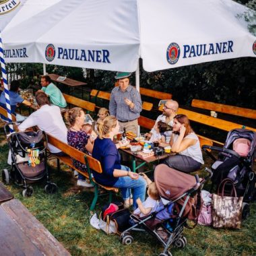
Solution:
<svg viewBox="0 0 256 256">
<path fill-rule="evenodd" d="M 256 57 L 248 11 L 231 0 L 62 0 L 3 32 L 4 56 L 112 71 L 135 71 L 139 57 L 146 71 Z"/>
</svg>

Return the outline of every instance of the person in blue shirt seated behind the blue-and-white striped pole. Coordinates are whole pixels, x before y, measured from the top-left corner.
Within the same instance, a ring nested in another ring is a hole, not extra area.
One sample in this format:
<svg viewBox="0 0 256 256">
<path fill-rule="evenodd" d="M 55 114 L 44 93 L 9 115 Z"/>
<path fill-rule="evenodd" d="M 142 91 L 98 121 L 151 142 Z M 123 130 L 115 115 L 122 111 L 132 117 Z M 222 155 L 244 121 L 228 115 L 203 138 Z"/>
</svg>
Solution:
<svg viewBox="0 0 256 256">
<path fill-rule="evenodd" d="M 26 117 L 19 115 L 18 113 L 15 113 L 17 104 L 25 104 L 26 106 L 31 106 L 31 103 L 28 100 L 24 100 L 19 94 L 18 90 L 20 88 L 20 82 L 18 80 L 11 81 L 11 86 L 9 88 L 9 99 L 11 104 L 11 114 L 15 115 L 16 121 L 24 121 Z M 1 93 L 0 96 L 0 106 L 6 109 L 5 104 L 5 92 Z M 4 121 L 8 121 L 6 117 L 1 115 L 1 119 Z"/>
</svg>

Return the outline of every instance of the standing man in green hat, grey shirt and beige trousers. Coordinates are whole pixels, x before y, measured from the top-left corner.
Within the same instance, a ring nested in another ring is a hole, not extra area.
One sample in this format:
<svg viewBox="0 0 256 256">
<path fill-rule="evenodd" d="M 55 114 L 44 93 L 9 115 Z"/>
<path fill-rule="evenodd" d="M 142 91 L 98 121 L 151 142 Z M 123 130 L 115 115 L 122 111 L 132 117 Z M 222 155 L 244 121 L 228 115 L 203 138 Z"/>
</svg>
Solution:
<svg viewBox="0 0 256 256">
<path fill-rule="evenodd" d="M 115 79 L 119 83 L 110 96 L 109 112 L 117 118 L 120 131 L 123 128 L 137 135 L 139 113 L 142 110 L 139 92 L 129 84 L 131 73 L 117 72 Z"/>
</svg>

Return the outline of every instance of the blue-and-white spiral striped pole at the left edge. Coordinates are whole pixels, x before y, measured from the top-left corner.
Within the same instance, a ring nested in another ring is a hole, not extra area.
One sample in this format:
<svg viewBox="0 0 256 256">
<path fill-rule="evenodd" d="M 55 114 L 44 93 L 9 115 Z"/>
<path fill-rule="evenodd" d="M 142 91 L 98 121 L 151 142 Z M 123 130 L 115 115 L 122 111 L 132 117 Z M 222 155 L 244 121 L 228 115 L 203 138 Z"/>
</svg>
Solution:
<svg viewBox="0 0 256 256">
<path fill-rule="evenodd" d="M 7 109 L 7 116 L 9 123 L 12 122 L 11 119 L 11 104 L 10 104 L 10 98 L 9 98 L 9 88 L 7 86 L 7 75 L 6 75 L 6 69 L 5 69 L 5 59 L 3 59 L 3 44 L 2 44 L 2 37 L 1 37 L 1 31 L 0 31 L 0 62 L 1 62 L 1 70 L 2 70 L 2 77 L 3 77 L 3 87 L 4 87 L 4 94 L 5 94 L 5 104 Z M 13 132 L 13 125 L 9 125 L 9 131 Z"/>
</svg>

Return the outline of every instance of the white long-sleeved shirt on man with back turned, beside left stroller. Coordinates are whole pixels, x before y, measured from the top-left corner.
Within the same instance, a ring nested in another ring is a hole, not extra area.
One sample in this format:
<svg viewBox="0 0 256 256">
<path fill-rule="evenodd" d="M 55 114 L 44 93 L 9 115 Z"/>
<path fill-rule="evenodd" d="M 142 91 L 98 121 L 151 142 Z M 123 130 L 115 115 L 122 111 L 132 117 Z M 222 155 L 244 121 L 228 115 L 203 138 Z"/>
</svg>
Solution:
<svg viewBox="0 0 256 256">
<path fill-rule="evenodd" d="M 48 104 L 41 106 L 38 110 L 32 113 L 22 124 L 19 125 L 20 131 L 38 126 L 38 128 L 46 133 L 51 134 L 53 137 L 67 143 L 67 127 L 63 122 L 61 110 L 59 106 Z M 49 150 L 52 153 L 61 152 L 50 143 L 48 144 Z"/>
</svg>

